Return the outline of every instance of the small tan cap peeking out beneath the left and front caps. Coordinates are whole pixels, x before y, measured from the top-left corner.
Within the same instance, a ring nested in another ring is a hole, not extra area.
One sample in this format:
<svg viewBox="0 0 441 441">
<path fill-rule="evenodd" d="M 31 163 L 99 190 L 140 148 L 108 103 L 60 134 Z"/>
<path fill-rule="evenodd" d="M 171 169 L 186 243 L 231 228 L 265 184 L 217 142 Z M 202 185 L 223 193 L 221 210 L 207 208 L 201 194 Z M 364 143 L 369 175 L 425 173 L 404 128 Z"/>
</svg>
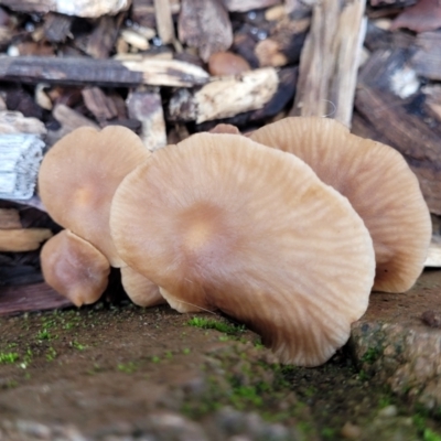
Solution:
<svg viewBox="0 0 441 441">
<path fill-rule="evenodd" d="M 130 267 L 121 267 L 121 283 L 127 295 L 138 306 L 165 303 L 159 287 Z"/>
</svg>

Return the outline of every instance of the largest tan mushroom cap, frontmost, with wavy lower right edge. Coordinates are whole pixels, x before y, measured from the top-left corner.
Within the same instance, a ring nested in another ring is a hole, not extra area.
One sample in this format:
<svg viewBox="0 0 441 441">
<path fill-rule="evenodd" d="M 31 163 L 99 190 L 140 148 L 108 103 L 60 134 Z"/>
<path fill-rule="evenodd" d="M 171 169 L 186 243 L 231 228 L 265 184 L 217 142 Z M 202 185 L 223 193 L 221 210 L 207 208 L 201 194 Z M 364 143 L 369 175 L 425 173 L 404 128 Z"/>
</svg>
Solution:
<svg viewBox="0 0 441 441">
<path fill-rule="evenodd" d="M 110 227 L 173 304 L 220 309 L 282 362 L 325 362 L 367 308 L 363 220 L 303 161 L 247 138 L 200 133 L 157 151 L 117 190 Z"/>
</svg>

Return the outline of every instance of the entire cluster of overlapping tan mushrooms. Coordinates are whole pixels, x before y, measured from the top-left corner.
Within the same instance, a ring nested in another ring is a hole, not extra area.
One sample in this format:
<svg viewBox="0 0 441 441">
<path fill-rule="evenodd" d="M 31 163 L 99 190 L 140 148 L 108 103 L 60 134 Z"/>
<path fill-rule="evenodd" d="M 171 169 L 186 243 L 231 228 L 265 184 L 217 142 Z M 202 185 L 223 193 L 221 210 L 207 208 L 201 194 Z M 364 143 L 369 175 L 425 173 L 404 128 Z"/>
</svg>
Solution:
<svg viewBox="0 0 441 441">
<path fill-rule="evenodd" d="M 406 162 L 355 138 L 332 120 L 289 118 L 249 137 L 218 127 L 149 154 L 123 128 L 78 129 L 40 172 L 42 200 L 67 228 L 42 251 L 44 276 L 61 293 L 79 278 L 67 295 L 80 304 L 116 266 L 137 304 L 219 310 L 281 362 L 322 364 L 347 341 L 373 286 L 415 282 L 430 240 Z"/>
</svg>

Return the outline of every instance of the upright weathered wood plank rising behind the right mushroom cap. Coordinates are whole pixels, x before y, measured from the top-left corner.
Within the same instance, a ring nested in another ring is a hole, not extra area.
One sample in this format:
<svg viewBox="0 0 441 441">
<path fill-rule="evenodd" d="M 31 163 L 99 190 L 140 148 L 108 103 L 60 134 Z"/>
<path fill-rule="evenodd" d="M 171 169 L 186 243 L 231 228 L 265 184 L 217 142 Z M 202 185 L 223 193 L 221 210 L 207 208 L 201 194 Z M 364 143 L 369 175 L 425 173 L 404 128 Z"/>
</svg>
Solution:
<svg viewBox="0 0 441 441">
<path fill-rule="evenodd" d="M 311 30 L 300 58 L 292 115 L 329 115 L 351 125 L 366 28 L 364 11 L 364 0 L 324 0 L 314 6 Z"/>
</svg>

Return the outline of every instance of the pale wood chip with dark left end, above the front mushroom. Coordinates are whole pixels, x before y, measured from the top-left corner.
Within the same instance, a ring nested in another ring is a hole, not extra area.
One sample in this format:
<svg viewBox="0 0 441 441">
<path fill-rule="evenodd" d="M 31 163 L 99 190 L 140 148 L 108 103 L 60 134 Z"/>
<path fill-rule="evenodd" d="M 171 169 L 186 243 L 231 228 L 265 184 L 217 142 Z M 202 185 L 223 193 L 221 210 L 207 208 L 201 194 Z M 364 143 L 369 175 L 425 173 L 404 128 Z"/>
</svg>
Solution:
<svg viewBox="0 0 441 441">
<path fill-rule="evenodd" d="M 260 109 L 275 96 L 278 84 L 276 69 L 266 67 L 218 78 L 197 92 L 180 89 L 170 100 L 170 118 L 200 123 Z"/>
</svg>

